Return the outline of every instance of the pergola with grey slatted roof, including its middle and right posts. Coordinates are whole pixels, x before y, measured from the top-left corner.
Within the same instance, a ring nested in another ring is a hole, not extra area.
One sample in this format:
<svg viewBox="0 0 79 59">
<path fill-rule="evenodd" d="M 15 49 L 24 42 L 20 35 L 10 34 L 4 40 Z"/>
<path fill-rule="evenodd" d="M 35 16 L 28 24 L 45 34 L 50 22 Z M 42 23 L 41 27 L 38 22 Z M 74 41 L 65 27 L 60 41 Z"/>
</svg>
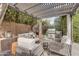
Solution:
<svg viewBox="0 0 79 59">
<path fill-rule="evenodd" d="M 13 3 L 8 4 L 17 11 L 28 13 L 39 19 L 49 18 L 54 16 L 67 15 L 67 44 L 70 45 L 70 55 L 72 46 L 72 15 L 78 8 L 76 3 Z M 39 22 L 39 35 L 42 33 L 42 25 Z"/>
</svg>

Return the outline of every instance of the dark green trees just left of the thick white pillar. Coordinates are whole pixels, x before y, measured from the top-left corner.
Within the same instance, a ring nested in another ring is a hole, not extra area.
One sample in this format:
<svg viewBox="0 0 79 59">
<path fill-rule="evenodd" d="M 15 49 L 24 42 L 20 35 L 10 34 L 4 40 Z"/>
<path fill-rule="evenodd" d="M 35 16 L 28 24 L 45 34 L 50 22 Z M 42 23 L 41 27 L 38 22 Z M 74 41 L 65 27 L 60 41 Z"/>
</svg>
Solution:
<svg viewBox="0 0 79 59">
<path fill-rule="evenodd" d="M 55 28 L 57 31 L 62 31 L 63 35 L 67 34 L 66 16 L 61 16 L 55 19 Z"/>
</svg>

